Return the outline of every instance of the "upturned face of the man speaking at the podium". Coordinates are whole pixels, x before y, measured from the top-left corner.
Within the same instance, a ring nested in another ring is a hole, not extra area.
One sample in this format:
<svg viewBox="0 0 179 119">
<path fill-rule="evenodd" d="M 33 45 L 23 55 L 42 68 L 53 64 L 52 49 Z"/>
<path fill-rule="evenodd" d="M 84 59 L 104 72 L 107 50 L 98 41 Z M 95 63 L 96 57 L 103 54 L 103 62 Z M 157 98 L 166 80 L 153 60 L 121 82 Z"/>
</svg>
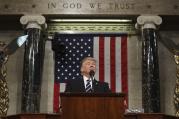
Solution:
<svg viewBox="0 0 179 119">
<path fill-rule="evenodd" d="M 86 61 L 83 62 L 81 71 L 83 72 L 84 75 L 88 76 L 91 70 L 93 70 L 94 72 L 96 71 L 96 62 L 87 59 Z"/>
</svg>

